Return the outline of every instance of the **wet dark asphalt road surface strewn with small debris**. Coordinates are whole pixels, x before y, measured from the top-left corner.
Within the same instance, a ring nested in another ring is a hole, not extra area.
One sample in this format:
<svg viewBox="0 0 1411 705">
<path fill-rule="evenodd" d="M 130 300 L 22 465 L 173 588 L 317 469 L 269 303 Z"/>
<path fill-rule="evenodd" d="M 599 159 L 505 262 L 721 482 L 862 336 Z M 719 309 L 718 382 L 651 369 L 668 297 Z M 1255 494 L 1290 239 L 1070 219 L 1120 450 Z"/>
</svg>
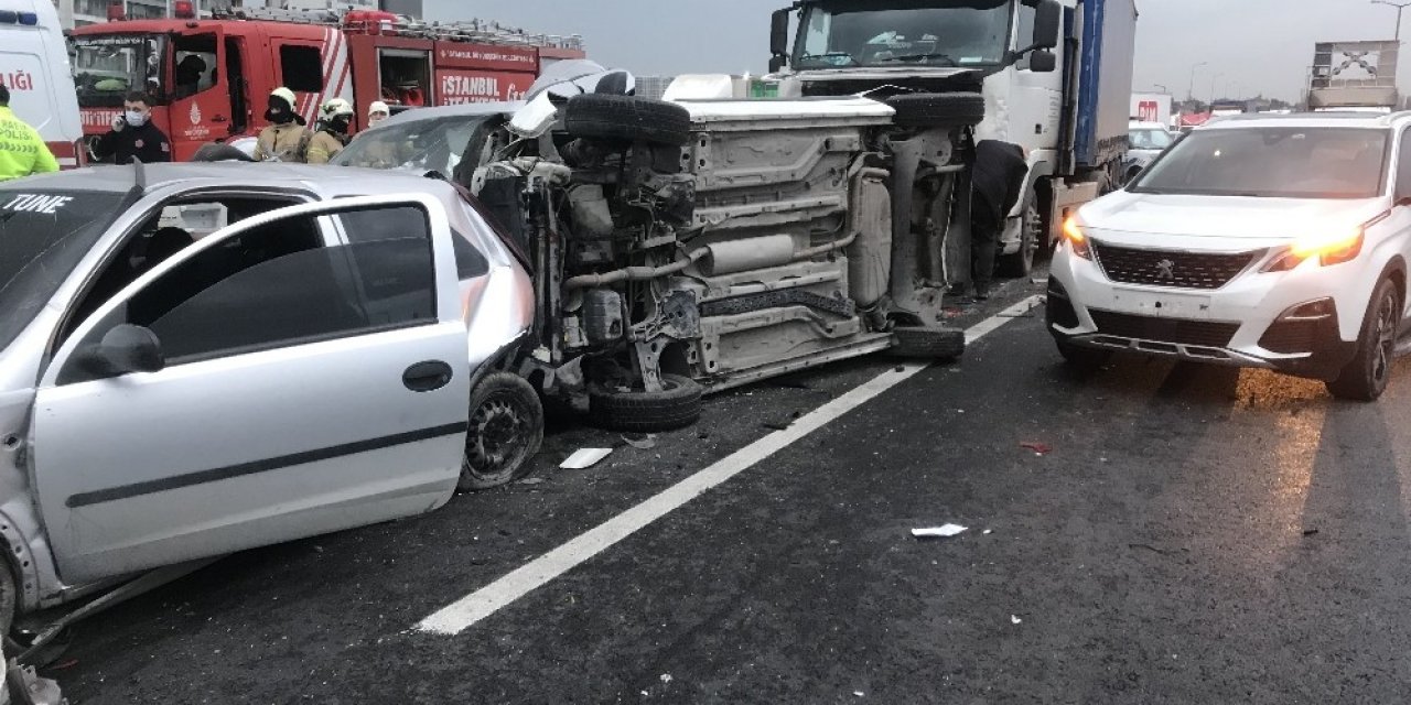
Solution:
<svg viewBox="0 0 1411 705">
<path fill-rule="evenodd" d="M 75 704 L 1407 699 L 1411 369 L 1377 405 L 1139 358 L 1079 378 L 1041 310 L 459 636 L 413 629 L 892 365 L 713 398 L 648 450 L 557 429 L 531 484 L 227 558 L 48 674 Z"/>
</svg>

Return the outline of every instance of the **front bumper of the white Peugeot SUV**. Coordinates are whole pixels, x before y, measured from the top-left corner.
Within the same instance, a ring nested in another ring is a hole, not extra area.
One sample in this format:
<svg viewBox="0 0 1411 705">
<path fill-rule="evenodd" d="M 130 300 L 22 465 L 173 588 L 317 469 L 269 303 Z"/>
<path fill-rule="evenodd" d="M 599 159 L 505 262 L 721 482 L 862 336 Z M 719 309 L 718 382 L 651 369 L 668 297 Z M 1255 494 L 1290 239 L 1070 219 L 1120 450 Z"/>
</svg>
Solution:
<svg viewBox="0 0 1411 705">
<path fill-rule="evenodd" d="M 1343 330 L 1360 327 L 1362 306 L 1336 286 L 1270 285 L 1277 278 L 1259 281 L 1263 276 L 1240 275 L 1222 289 L 1199 292 L 1129 286 L 1064 247 L 1048 279 L 1047 326 L 1055 338 L 1081 347 L 1338 376 L 1356 354 L 1356 338 L 1343 340 Z M 1174 312 L 1153 309 L 1163 298 L 1178 303 Z M 1348 326 L 1346 316 L 1355 316 L 1356 326 Z"/>
</svg>

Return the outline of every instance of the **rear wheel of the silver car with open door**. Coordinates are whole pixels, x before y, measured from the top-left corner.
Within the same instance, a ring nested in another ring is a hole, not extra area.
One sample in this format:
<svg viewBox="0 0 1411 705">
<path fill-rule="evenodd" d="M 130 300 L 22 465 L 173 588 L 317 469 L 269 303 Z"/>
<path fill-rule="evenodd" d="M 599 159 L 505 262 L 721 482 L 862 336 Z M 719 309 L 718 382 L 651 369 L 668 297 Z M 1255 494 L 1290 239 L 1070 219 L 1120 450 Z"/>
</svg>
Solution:
<svg viewBox="0 0 1411 705">
<path fill-rule="evenodd" d="M 491 372 L 470 395 L 457 489 L 490 489 L 528 475 L 542 443 L 543 406 L 533 386 L 518 375 Z"/>
</svg>

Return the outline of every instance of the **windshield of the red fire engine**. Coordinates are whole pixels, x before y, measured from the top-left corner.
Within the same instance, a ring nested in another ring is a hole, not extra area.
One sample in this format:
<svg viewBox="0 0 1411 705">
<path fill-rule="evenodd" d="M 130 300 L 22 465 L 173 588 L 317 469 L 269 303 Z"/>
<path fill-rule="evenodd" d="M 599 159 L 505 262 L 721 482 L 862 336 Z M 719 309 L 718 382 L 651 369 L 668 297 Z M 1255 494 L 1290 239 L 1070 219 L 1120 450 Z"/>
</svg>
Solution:
<svg viewBox="0 0 1411 705">
<path fill-rule="evenodd" d="M 166 37 L 109 34 L 73 37 L 73 83 L 82 107 L 121 107 L 134 90 L 159 96 Z"/>
</svg>

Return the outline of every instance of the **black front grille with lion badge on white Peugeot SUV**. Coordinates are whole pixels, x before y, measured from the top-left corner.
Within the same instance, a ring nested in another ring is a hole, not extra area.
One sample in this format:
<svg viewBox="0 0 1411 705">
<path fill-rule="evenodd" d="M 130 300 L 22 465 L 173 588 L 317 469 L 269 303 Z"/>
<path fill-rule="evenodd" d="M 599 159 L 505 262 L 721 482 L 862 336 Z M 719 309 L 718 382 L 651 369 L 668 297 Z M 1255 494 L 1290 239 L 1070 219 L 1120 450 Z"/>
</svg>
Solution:
<svg viewBox="0 0 1411 705">
<path fill-rule="evenodd" d="M 1260 252 L 1197 254 L 1170 250 L 1134 250 L 1092 243 L 1098 265 L 1108 279 L 1177 289 L 1219 289 L 1245 271 Z"/>
</svg>

